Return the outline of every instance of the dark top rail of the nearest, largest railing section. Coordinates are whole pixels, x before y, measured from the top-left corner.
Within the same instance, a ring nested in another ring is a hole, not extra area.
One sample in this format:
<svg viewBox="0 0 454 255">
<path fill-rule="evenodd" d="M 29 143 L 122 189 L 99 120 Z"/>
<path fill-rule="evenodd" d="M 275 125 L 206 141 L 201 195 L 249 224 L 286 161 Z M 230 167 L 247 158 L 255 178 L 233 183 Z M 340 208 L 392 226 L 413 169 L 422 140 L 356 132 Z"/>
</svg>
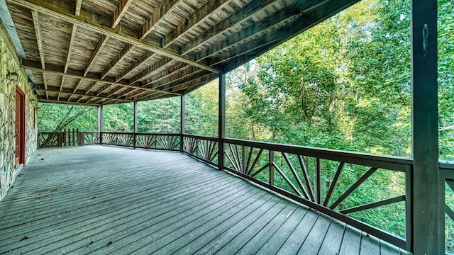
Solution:
<svg viewBox="0 0 454 255">
<path fill-rule="evenodd" d="M 363 166 L 374 166 L 382 169 L 406 171 L 407 166 L 413 164 L 413 159 L 407 157 L 392 157 L 367 154 L 361 152 L 345 152 L 337 149 L 322 149 L 314 147 L 304 147 L 297 145 L 282 145 L 271 142 L 253 142 L 248 140 L 229 139 L 224 142 L 245 145 L 248 147 L 258 147 L 276 152 L 285 152 L 290 154 L 299 154 L 319 159 L 328 159 L 338 162 L 359 164 Z"/>
</svg>

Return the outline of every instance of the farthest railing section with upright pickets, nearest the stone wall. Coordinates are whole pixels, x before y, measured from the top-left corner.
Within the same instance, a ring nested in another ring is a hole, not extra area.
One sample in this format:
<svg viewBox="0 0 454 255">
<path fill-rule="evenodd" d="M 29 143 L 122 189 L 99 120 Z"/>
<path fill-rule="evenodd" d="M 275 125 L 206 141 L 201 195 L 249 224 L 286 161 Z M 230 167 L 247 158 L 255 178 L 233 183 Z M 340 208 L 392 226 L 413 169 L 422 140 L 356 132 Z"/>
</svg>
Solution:
<svg viewBox="0 0 454 255">
<path fill-rule="evenodd" d="M 81 145 L 81 133 L 77 129 L 67 129 L 62 132 L 40 132 L 38 147 L 69 147 Z"/>
</svg>

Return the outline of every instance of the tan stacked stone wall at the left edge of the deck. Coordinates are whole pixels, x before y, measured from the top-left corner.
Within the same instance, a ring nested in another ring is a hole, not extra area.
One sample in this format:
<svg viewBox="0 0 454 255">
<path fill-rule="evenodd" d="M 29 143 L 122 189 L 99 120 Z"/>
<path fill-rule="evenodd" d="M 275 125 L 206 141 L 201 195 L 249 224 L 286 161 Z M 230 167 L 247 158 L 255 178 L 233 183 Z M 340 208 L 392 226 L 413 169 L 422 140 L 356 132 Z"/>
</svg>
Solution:
<svg viewBox="0 0 454 255">
<path fill-rule="evenodd" d="M 26 95 L 25 165 L 37 147 L 37 98 L 33 95 L 26 72 L 20 68 L 19 63 L 16 50 L 0 22 L 0 200 L 13 185 L 18 171 L 20 171 L 14 166 L 16 87 L 20 87 Z"/>
</svg>

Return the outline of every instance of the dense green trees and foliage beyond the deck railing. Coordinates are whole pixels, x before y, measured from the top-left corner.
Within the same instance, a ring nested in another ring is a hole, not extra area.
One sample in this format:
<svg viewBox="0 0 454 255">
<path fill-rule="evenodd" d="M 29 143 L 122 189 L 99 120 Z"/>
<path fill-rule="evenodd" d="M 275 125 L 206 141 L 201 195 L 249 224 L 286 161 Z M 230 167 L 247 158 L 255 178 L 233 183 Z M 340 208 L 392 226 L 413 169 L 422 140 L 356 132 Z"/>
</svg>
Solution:
<svg viewBox="0 0 454 255">
<path fill-rule="evenodd" d="M 454 160 L 454 1 L 440 0 L 438 8 L 439 151 L 440 159 Z M 361 1 L 232 71 L 227 136 L 411 157 L 410 26 L 409 1 Z M 217 135 L 217 81 L 185 101 L 185 132 Z M 138 131 L 179 132 L 179 106 L 178 97 L 138 103 Z M 104 111 L 105 130 L 133 130 L 132 103 Z M 39 113 L 40 130 L 96 129 L 94 108 L 41 103 Z M 367 171 L 346 168 L 334 198 Z M 323 181 L 335 170 L 335 162 L 324 162 Z M 400 195 L 404 188 L 403 174 L 380 170 L 343 206 Z M 446 191 L 454 208 L 454 194 Z M 352 216 L 404 236 L 403 203 Z M 448 251 L 454 251 L 454 223 L 446 222 Z"/>
</svg>

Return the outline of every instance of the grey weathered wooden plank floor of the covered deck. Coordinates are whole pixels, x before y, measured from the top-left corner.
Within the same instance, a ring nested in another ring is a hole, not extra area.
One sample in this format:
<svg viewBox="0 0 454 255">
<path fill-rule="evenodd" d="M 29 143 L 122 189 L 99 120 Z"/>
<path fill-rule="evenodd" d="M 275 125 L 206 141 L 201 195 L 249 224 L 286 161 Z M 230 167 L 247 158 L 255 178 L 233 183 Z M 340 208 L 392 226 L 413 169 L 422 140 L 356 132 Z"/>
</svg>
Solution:
<svg viewBox="0 0 454 255">
<path fill-rule="evenodd" d="M 0 254 L 406 254 L 179 152 L 40 149 L 0 215 Z"/>
</svg>

